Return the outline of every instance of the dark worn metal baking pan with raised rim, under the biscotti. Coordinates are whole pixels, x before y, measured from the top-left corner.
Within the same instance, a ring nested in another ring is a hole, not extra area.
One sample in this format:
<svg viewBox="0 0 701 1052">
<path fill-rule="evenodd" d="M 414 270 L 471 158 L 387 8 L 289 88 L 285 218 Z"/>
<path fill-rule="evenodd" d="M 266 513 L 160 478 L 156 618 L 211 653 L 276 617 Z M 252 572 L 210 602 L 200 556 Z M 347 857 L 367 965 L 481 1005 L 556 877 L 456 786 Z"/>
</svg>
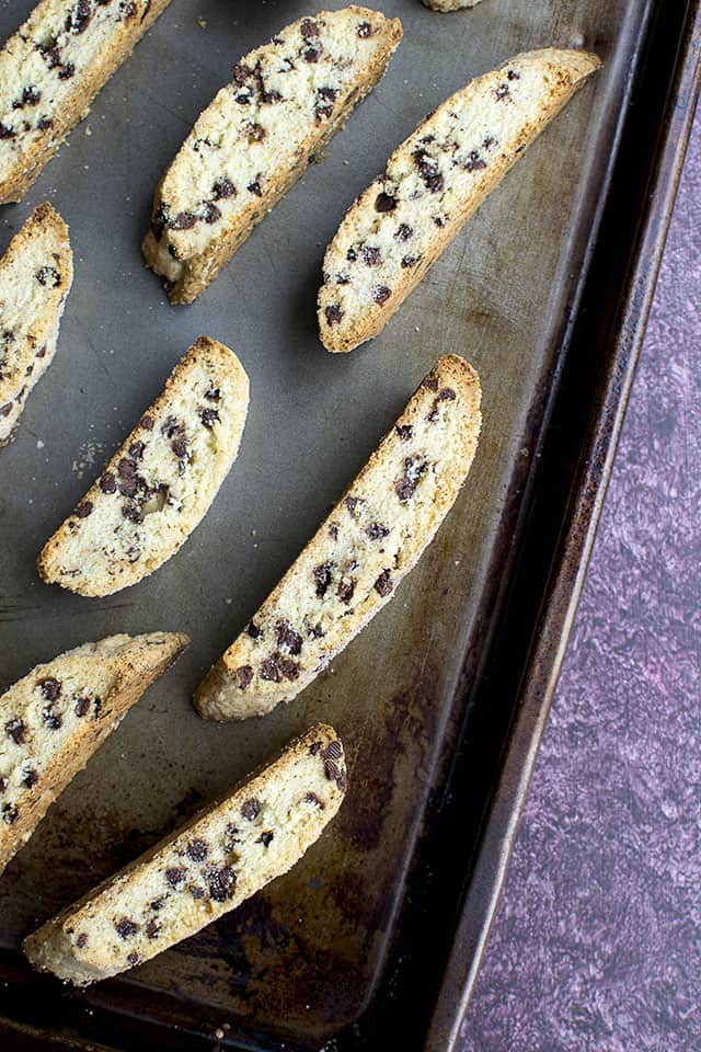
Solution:
<svg viewBox="0 0 701 1052">
<path fill-rule="evenodd" d="M 4 245 L 49 197 L 77 256 L 56 362 L 0 454 L 0 683 L 112 631 L 194 640 L 0 880 L 3 1049 L 455 1044 L 654 285 L 696 98 L 698 4 L 382 7 L 405 28 L 386 79 L 193 307 L 170 307 L 141 264 L 153 185 L 231 64 L 302 2 L 173 0 L 27 199 L 0 214 Z M 27 9 L 3 4 L 0 33 Z M 315 289 L 344 208 L 450 91 L 549 44 L 593 48 L 605 67 L 382 336 L 325 354 Z M 252 380 L 241 456 L 207 518 L 120 595 L 42 585 L 42 542 L 199 332 L 229 343 Z M 202 673 L 446 351 L 478 368 L 485 426 L 436 542 L 295 702 L 242 724 L 198 720 Z M 319 718 L 344 737 L 350 789 L 291 873 L 87 993 L 33 975 L 18 949 L 27 931 Z"/>
</svg>

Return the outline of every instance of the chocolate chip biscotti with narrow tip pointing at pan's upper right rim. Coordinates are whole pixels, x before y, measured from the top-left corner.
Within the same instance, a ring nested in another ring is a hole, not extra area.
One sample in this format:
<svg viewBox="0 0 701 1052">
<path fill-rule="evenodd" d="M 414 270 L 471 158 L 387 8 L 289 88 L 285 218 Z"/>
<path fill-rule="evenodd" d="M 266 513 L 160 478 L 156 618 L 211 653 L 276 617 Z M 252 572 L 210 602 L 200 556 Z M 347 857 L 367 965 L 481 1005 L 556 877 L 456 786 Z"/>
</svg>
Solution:
<svg viewBox="0 0 701 1052">
<path fill-rule="evenodd" d="M 458 91 L 402 142 L 326 249 L 319 327 L 327 351 L 353 351 L 381 332 L 599 65 L 586 52 L 517 55 Z"/>
</svg>

